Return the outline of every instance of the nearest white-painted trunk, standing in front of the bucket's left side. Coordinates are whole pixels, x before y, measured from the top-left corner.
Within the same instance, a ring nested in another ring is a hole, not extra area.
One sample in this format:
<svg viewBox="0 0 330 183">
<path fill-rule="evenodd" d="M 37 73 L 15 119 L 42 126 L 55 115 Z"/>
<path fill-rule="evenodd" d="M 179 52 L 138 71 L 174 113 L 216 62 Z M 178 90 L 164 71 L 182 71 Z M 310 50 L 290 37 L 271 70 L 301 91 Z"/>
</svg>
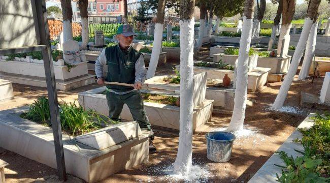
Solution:
<svg viewBox="0 0 330 183">
<path fill-rule="evenodd" d="M 174 163 L 174 174 L 188 175 L 192 156 L 193 113 L 193 17 L 195 1 L 181 0 L 180 19 L 180 133 L 179 149 Z"/>
</svg>

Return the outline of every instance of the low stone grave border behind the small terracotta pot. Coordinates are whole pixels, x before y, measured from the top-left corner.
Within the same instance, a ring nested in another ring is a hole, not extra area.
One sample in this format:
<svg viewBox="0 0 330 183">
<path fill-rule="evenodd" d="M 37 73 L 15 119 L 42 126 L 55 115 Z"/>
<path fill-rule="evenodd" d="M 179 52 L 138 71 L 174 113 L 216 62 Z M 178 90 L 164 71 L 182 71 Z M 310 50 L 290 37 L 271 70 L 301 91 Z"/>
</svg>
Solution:
<svg viewBox="0 0 330 183">
<path fill-rule="evenodd" d="M 180 69 L 180 65 L 175 66 L 177 69 Z M 259 68 L 253 69 L 248 72 L 248 89 L 252 92 L 256 92 L 261 89 L 266 83 L 269 75 L 270 68 Z M 216 68 L 207 68 L 207 67 L 193 67 L 193 73 L 207 72 L 207 77 L 210 79 L 222 79 L 225 74 L 228 74 L 230 80 L 234 80 L 234 71 L 222 70 Z"/>
</svg>

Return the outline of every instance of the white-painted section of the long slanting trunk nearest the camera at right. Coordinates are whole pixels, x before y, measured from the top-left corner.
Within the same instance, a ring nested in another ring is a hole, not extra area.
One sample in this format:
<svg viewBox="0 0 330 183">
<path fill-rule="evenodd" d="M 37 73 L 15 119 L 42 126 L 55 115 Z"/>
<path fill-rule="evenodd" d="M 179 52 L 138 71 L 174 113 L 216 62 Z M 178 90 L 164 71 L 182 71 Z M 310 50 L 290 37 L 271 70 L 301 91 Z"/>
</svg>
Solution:
<svg viewBox="0 0 330 183">
<path fill-rule="evenodd" d="M 284 78 L 284 81 L 280 87 L 279 93 L 277 94 L 275 102 L 272 106 L 273 109 L 278 110 L 284 104 L 287 93 L 288 93 L 291 83 L 293 81 L 294 75 L 298 69 L 300 59 L 302 58 L 304 49 L 306 48 L 306 42 L 307 42 L 307 38 L 310 33 L 312 24 L 313 24 L 313 20 L 311 20 L 310 18 L 305 19 L 303 32 L 299 38 L 298 45 L 295 48 L 289 70 Z M 286 25 L 283 25 L 283 26 L 286 26 Z"/>
</svg>

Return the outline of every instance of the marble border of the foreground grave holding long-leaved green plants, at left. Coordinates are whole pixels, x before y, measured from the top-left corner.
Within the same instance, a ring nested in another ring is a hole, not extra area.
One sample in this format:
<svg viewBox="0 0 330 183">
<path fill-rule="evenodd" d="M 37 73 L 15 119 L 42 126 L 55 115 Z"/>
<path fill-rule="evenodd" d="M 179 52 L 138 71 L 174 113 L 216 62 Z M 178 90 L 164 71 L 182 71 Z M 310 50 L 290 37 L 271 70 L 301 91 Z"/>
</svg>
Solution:
<svg viewBox="0 0 330 183">
<path fill-rule="evenodd" d="M 49 167 L 57 168 L 52 129 L 20 118 L 28 107 L 0 111 L 0 146 Z M 62 133 L 65 169 L 87 182 L 148 162 L 149 132 L 98 150 Z"/>
</svg>

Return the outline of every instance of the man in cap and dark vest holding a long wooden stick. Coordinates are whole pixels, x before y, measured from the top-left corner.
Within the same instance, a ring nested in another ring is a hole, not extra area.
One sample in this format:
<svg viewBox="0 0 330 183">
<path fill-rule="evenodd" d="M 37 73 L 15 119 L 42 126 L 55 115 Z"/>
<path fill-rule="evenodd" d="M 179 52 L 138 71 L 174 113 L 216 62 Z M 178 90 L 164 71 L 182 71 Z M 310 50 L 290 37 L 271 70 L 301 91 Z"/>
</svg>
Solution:
<svg viewBox="0 0 330 183">
<path fill-rule="evenodd" d="M 113 120 L 121 120 L 120 113 L 123 105 L 127 104 L 133 119 L 138 121 L 140 128 L 151 131 L 139 90 L 146 78 L 146 68 L 143 55 L 130 46 L 133 36 L 137 35 L 131 26 L 124 24 L 118 27 L 118 45 L 103 49 L 95 61 L 97 84 L 105 84 L 104 81 L 134 84 L 134 87 L 107 85 L 109 116 Z M 103 78 L 104 66 L 108 67 L 106 78 Z M 153 138 L 153 136 L 150 137 L 149 153 L 156 153 Z"/>
</svg>

